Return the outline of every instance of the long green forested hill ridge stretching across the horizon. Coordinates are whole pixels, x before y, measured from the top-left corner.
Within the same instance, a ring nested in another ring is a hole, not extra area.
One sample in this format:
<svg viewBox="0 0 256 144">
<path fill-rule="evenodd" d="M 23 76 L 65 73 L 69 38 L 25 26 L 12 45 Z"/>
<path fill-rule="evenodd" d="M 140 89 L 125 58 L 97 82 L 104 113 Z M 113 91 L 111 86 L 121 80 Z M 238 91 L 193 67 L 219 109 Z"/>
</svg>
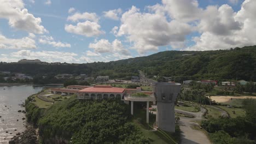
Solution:
<svg viewBox="0 0 256 144">
<path fill-rule="evenodd" d="M 114 62 L 59 65 L 0 63 L 0 71 L 30 75 L 88 74 L 109 75 L 112 79 L 130 79 L 144 71 L 154 75 L 174 76 L 175 79 L 237 79 L 256 81 L 256 46 L 217 51 L 164 51 L 146 57 Z"/>
</svg>

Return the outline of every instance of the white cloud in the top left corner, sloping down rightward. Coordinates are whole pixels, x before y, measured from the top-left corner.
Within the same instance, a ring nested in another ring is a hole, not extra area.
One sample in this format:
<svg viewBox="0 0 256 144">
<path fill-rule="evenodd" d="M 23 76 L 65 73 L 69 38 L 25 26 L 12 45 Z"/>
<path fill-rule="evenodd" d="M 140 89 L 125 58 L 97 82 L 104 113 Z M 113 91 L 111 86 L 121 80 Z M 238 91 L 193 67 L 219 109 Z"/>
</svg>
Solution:
<svg viewBox="0 0 256 144">
<path fill-rule="evenodd" d="M 40 25 L 42 22 L 38 17 L 34 17 L 24 8 L 24 3 L 21 0 L 2 1 L 0 4 L 0 18 L 9 20 L 11 27 L 21 29 L 23 31 L 42 34 L 47 32 Z"/>
</svg>

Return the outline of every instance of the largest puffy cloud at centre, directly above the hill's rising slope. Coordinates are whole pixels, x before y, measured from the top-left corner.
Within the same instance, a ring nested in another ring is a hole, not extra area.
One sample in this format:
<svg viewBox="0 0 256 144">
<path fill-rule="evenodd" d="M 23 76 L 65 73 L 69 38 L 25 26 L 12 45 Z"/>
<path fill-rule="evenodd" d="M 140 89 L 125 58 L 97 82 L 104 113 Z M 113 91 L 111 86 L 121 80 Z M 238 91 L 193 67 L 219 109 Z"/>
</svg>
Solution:
<svg viewBox="0 0 256 144">
<path fill-rule="evenodd" d="M 126 35 L 133 43 L 133 49 L 142 55 L 148 51 L 157 51 L 158 46 L 181 45 L 191 31 L 188 23 L 177 20 L 169 22 L 163 13 L 140 13 L 133 6 L 123 14 L 118 35 Z"/>
</svg>

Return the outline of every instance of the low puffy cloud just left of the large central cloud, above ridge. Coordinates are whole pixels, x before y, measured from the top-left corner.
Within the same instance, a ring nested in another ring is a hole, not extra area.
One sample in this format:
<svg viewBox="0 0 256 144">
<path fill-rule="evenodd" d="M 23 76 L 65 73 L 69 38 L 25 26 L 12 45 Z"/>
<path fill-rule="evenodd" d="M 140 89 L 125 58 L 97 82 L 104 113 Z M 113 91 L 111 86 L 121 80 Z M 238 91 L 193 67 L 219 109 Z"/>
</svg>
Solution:
<svg viewBox="0 0 256 144">
<path fill-rule="evenodd" d="M 89 48 L 94 49 L 95 52 L 98 53 L 111 52 L 121 53 L 121 55 L 131 55 L 131 53 L 124 48 L 123 44 L 118 39 L 115 39 L 114 41 L 112 41 L 112 43 L 109 43 L 109 41 L 106 39 L 101 39 L 96 41 L 95 43 L 90 43 Z"/>
</svg>

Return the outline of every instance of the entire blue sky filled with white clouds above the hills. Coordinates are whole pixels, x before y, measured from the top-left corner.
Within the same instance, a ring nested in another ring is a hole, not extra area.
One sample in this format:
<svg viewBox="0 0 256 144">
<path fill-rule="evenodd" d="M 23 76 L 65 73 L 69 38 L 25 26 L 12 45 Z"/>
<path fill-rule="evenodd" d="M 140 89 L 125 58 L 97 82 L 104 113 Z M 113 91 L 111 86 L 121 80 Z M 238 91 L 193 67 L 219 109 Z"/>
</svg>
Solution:
<svg viewBox="0 0 256 144">
<path fill-rule="evenodd" d="M 108 62 L 256 43 L 253 0 L 0 2 L 4 62 Z"/>
</svg>

